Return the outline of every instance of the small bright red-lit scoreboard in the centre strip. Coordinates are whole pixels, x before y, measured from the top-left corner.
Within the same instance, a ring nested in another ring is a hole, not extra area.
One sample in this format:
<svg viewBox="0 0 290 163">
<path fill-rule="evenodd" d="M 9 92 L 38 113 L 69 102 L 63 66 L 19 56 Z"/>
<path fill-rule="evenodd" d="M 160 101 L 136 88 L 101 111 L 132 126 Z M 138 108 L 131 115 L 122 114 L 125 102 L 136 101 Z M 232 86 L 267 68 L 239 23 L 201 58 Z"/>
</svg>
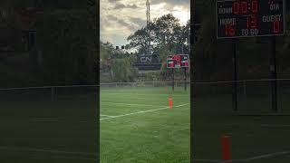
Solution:
<svg viewBox="0 0 290 163">
<path fill-rule="evenodd" d="M 167 68 L 183 68 L 189 67 L 188 54 L 174 54 L 167 56 Z"/>
</svg>

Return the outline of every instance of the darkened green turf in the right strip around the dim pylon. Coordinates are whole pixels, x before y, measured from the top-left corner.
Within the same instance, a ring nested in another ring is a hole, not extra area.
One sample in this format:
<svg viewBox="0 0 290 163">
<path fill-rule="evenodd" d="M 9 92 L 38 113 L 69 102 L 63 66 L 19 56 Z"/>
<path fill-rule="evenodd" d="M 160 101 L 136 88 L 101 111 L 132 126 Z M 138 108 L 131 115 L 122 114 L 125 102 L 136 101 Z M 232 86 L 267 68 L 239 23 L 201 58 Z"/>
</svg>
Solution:
<svg viewBox="0 0 290 163">
<path fill-rule="evenodd" d="M 271 106 L 268 103 L 270 102 L 266 101 L 266 98 L 255 98 L 248 101 L 247 107 L 270 112 Z M 245 111 L 245 108 L 242 108 L 245 105 L 239 103 L 238 106 L 240 110 Z M 285 116 L 238 116 L 231 110 L 230 95 L 196 98 L 194 107 L 195 148 L 193 150 L 196 162 L 220 162 L 220 138 L 223 134 L 231 136 L 232 162 L 287 163 L 290 161 L 290 117 L 286 114 Z M 283 109 L 286 108 L 285 103 Z"/>
</svg>

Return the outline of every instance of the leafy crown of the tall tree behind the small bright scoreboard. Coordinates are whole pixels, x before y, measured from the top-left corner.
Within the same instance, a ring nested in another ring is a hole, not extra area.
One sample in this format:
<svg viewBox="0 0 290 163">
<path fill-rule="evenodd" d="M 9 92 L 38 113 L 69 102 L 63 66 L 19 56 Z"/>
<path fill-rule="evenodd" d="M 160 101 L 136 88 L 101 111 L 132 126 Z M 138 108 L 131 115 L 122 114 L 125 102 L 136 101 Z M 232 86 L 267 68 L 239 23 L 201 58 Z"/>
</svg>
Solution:
<svg viewBox="0 0 290 163">
<path fill-rule="evenodd" d="M 182 48 L 184 53 L 188 53 L 188 38 L 189 22 L 186 25 L 180 25 L 178 18 L 172 14 L 165 14 L 155 18 L 149 26 L 131 34 L 127 40 L 130 42 L 130 48 L 137 48 L 139 53 L 146 52 L 149 39 L 151 47 L 155 47 L 157 52 L 166 47 L 172 53 L 182 53 Z"/>
</svg>

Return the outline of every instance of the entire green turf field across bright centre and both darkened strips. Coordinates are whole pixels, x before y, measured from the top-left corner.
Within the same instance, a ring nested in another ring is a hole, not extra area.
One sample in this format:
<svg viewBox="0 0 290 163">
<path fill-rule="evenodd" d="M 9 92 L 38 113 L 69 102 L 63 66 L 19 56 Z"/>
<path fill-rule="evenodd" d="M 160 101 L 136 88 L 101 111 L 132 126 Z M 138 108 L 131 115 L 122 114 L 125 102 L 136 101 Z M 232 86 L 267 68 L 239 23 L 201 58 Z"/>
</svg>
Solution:
<svg viewBox="0 0 290 163">
<path fill-rule="evenodd" d="M 189 94 L 182 87 L 173 93 L 167 87 L 102 88 L 101 162 L 189 162 Z M 94 162 L 94 98 L 1 101 L 0 162 Z M 220 162 L 223 134 L 231 136 L 232 162 L 289 162 L 290 109 L 287 96 L 281 99 L 285 116 L 238 116 L 230 95 L 197 97 L 192 104 L 195 162 Z M 241 111 L 270 112 L 266 97 L 241 102 Z"/>
</svg>

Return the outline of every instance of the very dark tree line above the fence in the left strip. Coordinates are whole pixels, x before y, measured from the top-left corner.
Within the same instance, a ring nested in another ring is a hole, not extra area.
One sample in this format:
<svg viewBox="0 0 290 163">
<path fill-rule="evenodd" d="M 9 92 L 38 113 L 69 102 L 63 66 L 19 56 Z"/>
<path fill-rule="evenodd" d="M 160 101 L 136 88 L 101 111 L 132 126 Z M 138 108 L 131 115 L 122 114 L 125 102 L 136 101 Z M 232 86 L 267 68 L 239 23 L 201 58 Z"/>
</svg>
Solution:
<svg viewBox="0 0 290 163">
<path fill-rule="evenodd" d="M 94 1 L 1 3 L 8 16 L 0 23 L 0 87 L 95 84 L 99 39 Z M 30 23 L 24 21 L 29 12 Z M 27 43 L 30 48 L 24 47 Z"/>
</svg>

